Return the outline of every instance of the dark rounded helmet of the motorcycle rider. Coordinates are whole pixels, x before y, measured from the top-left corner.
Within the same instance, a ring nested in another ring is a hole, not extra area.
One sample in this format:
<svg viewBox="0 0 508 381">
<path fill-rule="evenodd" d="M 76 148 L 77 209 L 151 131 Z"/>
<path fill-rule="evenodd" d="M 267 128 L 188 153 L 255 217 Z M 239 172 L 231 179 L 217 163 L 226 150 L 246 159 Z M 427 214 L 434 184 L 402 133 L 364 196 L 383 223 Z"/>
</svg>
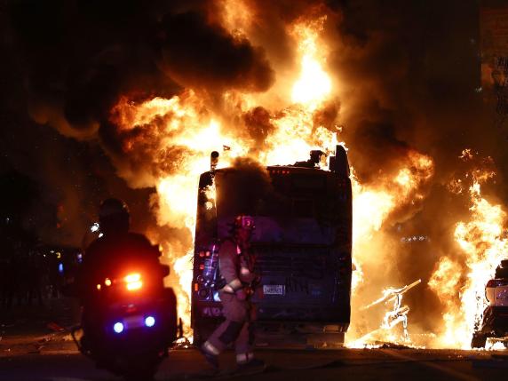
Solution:
<svg viewBox="0 0 508 381">
<path fill-rule="evenodd" d="M 129 231 L 131 215 L 127 205 L 116 198 L 108 198 L 100 204 L 99 226 L 101 233 L 119 234 Z"/>
</svg>

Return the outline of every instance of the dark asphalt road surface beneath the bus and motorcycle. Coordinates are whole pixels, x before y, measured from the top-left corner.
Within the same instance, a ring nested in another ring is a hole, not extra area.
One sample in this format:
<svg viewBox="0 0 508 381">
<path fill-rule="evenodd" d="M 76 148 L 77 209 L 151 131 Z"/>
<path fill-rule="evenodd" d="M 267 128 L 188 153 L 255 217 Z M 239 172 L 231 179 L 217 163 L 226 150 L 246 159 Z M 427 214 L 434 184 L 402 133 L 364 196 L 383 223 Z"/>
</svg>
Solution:
<svg viewBox="0 0 508 381">
<path fill-rule="evenodd" d="M 75 350 L 74 344 L 54 335 L 46 341 L 11 340 L 0 345 L 2 381 L 118 380 Z M 2 342 L 0 342 L 2 343 Z M 157 380 L 504 380 L 507 351 L 424 349 L 259 349 L 266 368 L 238 374 L 234 353 L 221 355 L 221 370 L 213 373 L 195 349 L 178 349 L 163 361 Z"/>
</svg>

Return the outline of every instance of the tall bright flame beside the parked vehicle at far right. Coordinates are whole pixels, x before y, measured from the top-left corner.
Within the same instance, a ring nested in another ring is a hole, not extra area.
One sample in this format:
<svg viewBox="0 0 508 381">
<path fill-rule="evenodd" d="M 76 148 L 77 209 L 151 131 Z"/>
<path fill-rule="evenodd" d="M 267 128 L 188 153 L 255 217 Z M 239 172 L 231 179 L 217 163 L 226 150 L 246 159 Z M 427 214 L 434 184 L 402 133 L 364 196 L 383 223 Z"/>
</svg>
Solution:
<svg viewBox="0 0 508 381">
<path fill-rule="evenodd" d="M 481 195 L 480 181 L 490 179 L 492 174 L 472 171 L 471 217 L 458 222 L 454 234 L 460 256 L 456 260 L 441 258 L 429 282 L 446 307 L 442 346 L 470 347 L 472 333 L 480 327 L 488 305 L 485 286 L 508 252 L 506 213 L 501 205 L 492 204 Z"/>
</svg>

